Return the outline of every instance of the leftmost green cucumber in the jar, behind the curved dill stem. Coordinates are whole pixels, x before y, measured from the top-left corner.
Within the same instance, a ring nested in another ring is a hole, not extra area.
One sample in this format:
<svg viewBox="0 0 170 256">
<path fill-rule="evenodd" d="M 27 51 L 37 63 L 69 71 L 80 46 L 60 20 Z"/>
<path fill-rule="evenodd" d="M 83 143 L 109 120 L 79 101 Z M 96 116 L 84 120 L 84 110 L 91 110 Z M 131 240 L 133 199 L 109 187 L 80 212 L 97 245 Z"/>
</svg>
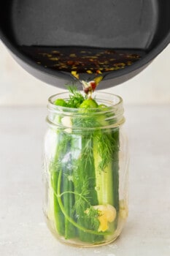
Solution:
<svg viewBox="0 0 170 256">
<path fill-rule="evenodd" d="M 66 192 L 62 196 L 63 206 L 69 217 L 74 218 L 74 212 L 72 208 L 74 206 L 74 195 L 70 192 L 74 190 L 72 179 L 72 170 L 68 168 L 68 162 L 64 162 L 63 159 L 67 159 L 66 154 L 70 151 L 70 135 L 66 132 L 58 131 L 58 143 L 55 153 L 55 159 L 53 162 L 53 168 L 50 170 L 51 181 L 54 192 L 54 217 L 55 217 L 55 228 L 60 236 L 64 236 L 66 239 L 73 238 L 75 236 L 75 227 L 68 222 L 64 217 L 61 206 L 58 203 L 58 177 L 61 172 L 61 193 Z"/>
</svg>

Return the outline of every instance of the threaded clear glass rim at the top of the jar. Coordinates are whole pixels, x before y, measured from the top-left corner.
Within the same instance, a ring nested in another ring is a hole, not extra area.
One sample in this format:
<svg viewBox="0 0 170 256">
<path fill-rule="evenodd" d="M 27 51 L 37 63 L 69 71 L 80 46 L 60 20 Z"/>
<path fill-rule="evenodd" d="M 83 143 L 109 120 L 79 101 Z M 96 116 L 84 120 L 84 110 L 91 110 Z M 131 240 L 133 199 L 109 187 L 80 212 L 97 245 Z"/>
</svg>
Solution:
<svg viewBox="0 0 170 256">
<path fill-rule="evenodd" d="M 100 105 L 105 105 L 106 107 L 90 108 L 90 111 L 88 112 L 86 111 L 85 108 L 68 108 L 68 107 L 63 107 L 63 106 L 54 104 L 55 99 L 66 100 L 66 99 L 69 99 L 69 95 L 70 95 L 69 91 L 65 91 L 59 94 L 55 94 L 48 99 L 48 102 L 49 102 L 47 105 L 47 109 L 49 111 L 49 114 L 47 116 L 48 124 L 62 127 L 62 124 L 60 123 L 60 121 L 58 123 L 58 120 L 61 118 L 65 118 L 65 120 L 67 119 L 69 123 L 70 122 L 69 118 L 71 118 L 73 121 L 73 120 L 76 120 L 76 118 L 78 118 L 77 120 L 80 120 L 80 119 L 83 120 L 83 118 L 85 120 L 87 117 L 89 117 L 92 119 L 96 118 L 96 120 L 103 119 L 107 121 L 108 124 L 106 124 L 106 122 L 102 122 L 102 123 L 98 121 L 96 122 L 96 127 L 99 124 L 100 126 L 98 126 L 98 128 L 100 127 L 101 129 L 107 129 L 109 127 L 119 127 L 125 122 L 125 118 L 123 116 L 123 113 L 124 113 L 123 99 L 120 96 L 103 92 L 103 91 L 95 91 L 93 93 L 93 98 L 96 99 L 97 103 L 99 103 Z M 60 118 L 58 119 L 59 116 Z M 92 129 L 91 127 L 92 123 L 91 122 L 88 124 L 85 123 L 85 125 L 87 126 L 81 127 L 81 129 Z M 93 127 L 93 129 L 96 129 L 96 127 Z M 80 129 L 80 127 L 74 126 L 74 129 Z"/>
</svg>

